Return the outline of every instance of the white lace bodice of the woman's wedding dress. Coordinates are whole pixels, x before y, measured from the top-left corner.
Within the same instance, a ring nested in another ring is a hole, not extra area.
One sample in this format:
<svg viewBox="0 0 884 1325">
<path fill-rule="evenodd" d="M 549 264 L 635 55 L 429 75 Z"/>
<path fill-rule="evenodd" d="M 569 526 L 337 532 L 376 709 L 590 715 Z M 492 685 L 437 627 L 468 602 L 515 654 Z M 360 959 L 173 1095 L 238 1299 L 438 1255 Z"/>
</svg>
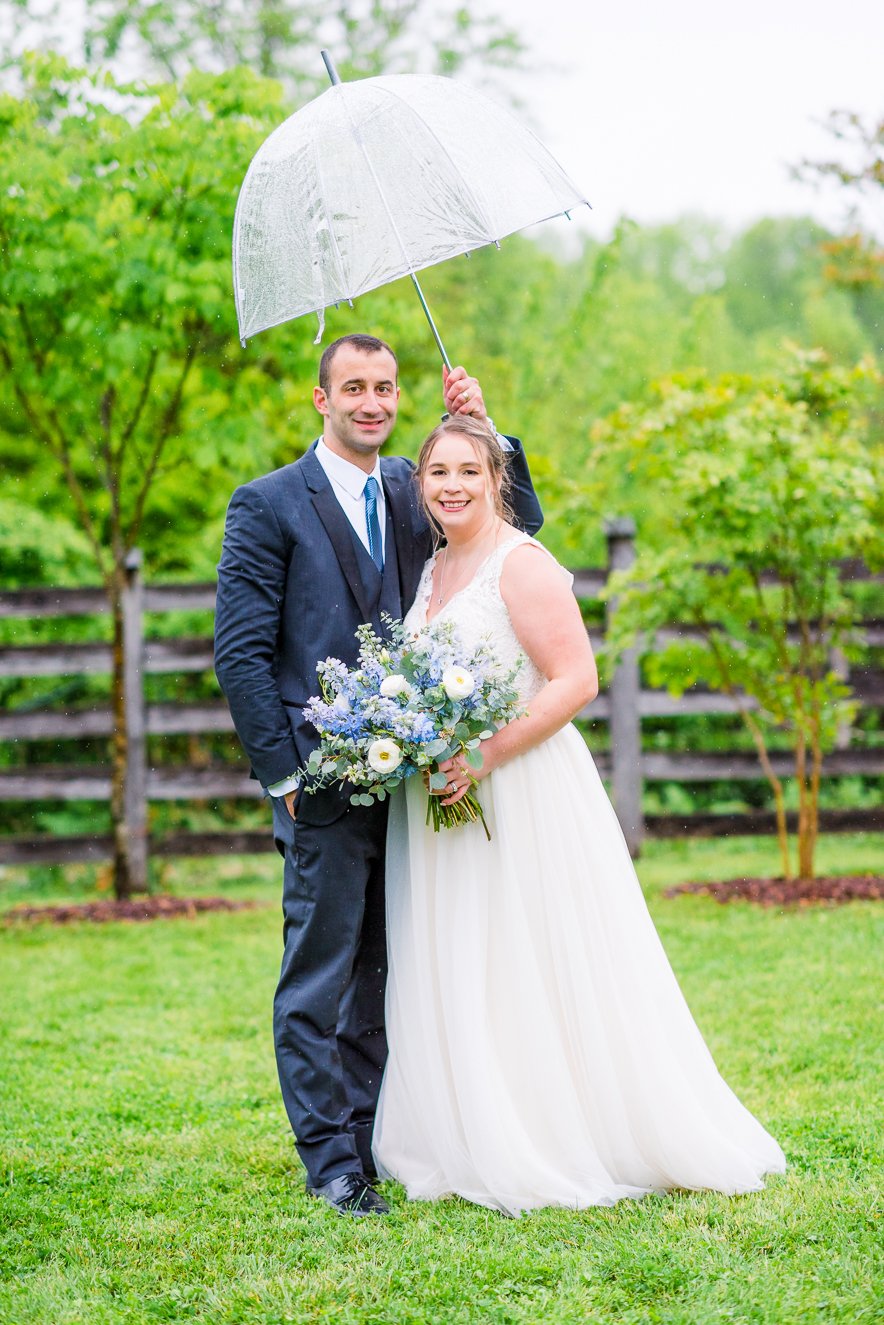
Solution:
<svg viewBox="0 0 884 1325">
<path fill-rule="evenodd" d="M 514 534 L 505 543 L 496 547 L 473 575 L 469 584 L 453 594 L 441 611 L 433 616 L 431 627 L 436 621 L 453 621 L 457 637 L 465 649 L 472 651 L 477 644 L 489 641 L 494 653 L 505 670 L 518 665 L 516 688 L 522 704 L 527 704 L 537 692 L 546 685 L 546 677 L 531 662 L 525 649 L 518 643 L 506 603 L 501 598 L 500 578 L 506 556 L 521 543 L 534 543 L 527 534 Z M 541 543 L 535 545 L 543 553 L 546 549 Z M 439 554 L 436 554 L 439 555 Z M 547 556 L 551 553 L 546 553 Z M 436 556 L 431 556 L 424 566 L 415 602 L 406 615 L 406 628 L 420 631 L 427 627 L 427 608 L 432 590 L 432 575 Z M 562 567 L 562 574 L 569 572 Z"/>
</svg>

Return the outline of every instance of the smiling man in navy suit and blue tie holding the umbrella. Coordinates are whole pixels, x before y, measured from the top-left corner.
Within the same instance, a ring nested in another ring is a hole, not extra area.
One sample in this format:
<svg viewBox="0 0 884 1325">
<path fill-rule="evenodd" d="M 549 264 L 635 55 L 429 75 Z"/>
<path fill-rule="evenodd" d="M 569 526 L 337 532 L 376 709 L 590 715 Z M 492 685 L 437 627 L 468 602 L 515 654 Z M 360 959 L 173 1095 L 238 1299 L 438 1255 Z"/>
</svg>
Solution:
<svg viewBox="0 0 884 1325">
<path fill-rule="evenodd" d="M 444 375 L 445 408 L 486 420 L 478 383 Z M 317 662 L 357 660 L 355 629 L 404 616 L 431 531 L 414 466 L 379 458 L 399 404 L 396 356 L 368 335 L 330 344 L 313 403 L 322 436 L 294 464 L 237 488 L 219 564 L 215 670 L 254 776 L 270 795 L 285 859 L 284 957 L 274 999 L 282 1100 L 307 1190 L 342 1214 L 386 1214 L 371 1186 L 371 1130 L 387 1047 L 383 1026 L 386 803 L 304 795 L 317 745 L 304 708 Z M 516 439 L 513 505 L 542 515 Z"/>
</svg>

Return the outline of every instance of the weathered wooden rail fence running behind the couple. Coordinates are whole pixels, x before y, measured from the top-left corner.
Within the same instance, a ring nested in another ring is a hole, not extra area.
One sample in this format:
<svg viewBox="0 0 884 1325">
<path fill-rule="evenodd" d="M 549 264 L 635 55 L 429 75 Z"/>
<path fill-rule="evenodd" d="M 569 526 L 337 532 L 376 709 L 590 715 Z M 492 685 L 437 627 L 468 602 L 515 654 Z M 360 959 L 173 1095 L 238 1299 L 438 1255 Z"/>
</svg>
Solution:
<svg viewBox="0 0 884 1325">
<path fill-rule="evenodd" d="M 604 568 L 575 572 L 578 598 L 598 598 L 612 570 L 631 564 L 635 556 L 635 526 L 631 521 L 611 521 L 607 527 L 608 558 Z M 844 567 L 854 579 L 869 578 L 859 566 Z M 140 558 L 134 553 L 129 566 L 126 591 L 126 660 L 125 678 L 130 704 L 130 742 L 127 772 L 127 816 L 134 825 L 147 823 L 150 802 L 212 802 L 258 799 L 261 788 L 249 776 L 245 762 L 215 762 L 205 767 L 190 765 L 151 765 L 150 738 L 155 735 L 205 735 L 233 730 L 223 698 L 200 704 L 147 704 L 144 677 L 156 673 L 204 673 L 212 677 L 212 641 L 197 639 L 146 639 L 146 612 L 212 611 L 215 584 L 144 584 Z M 616 604 L 608 604 L 608 613 Z M 0 613 L 5 617 L 78 617 L 107 611 L 99 588 L 32 588 L 0 592 Z M 676 629 L 676 628 L 673 628 Z M 863 623 L 867 645 L 884 645 L 884 621 Z M 676 631 L 681 637 L 687 632 Z M 602 636 L 590 632 L 594 644 Z M 665 641 L 669 632 L 659 637 Z M 0 677 L 61 677 L 106 674 L 111 668 L 110 645 L 25 644 L 0 647 Z M 864 668 L 851 676 L 851 685 L 860 706 L 884 708 L 884 672 Z M 656 753 L 643 750 L 641 723 L 645 718 L 668 718 L 684 714 L 736 713 L 736 702 L 724 694 L 692 690 L 681 698 L 665 692 L 643 689 L 639 660 L 627 655 L 603 692 L 583 717 L 607 722 L 608 753 L 596 755 L 603 776 L 610 779 L 614 803 L 630 849 L 637 853 L 645 836 L 722 836 L 769 833 L 775 829 L 773 812 L 651 815 L 641 812 L 645 782 L 708 783 L 712 780 L 754 780 L 761 776 L 758 761 L 746 751 Z M 0 742 L 27 749 L 30 742 L 72 741 L 109 737 L 110 706 L 27 709 L 0 713 Z M 774 755 L 774 768 L 789 775 L 790 761 Z M 826 776 L 851 774 L 884 774 L 884 750 L 851 747 L 850 733 L 843 733 L 840 749 L 824 762 Z M 23 763 L 0 767 L 0 802 L 107 800 L 110 770 L 101 765 Z M 884 829 L 884 810 L 823 811 L 824 831 L 859 828 Z M 151 836 L 148 849 L 154 856 L 203 856 L 217 853 L 250 853 L 273 849 L 269 829 L 172 832 Z M 54 833 L 0 836 L 0 864 L 58 864 L 110 859 L 109 835 L 93 833 L 76 837 Z"/>
</svg>

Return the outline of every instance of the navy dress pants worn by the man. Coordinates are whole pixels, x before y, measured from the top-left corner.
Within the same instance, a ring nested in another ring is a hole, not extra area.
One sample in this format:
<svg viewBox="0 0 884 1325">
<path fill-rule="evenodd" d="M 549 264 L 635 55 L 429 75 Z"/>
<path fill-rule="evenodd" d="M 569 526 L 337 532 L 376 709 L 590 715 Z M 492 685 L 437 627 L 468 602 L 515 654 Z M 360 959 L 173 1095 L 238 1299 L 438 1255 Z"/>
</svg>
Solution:
<svg viewBox="0 0 884 1325">
<path fill-rule="evenodd" d="M 387 804 L 351 806 L 334 823 L 309 824 L 274 799 L 273 831 L 285 857 L 276 1060 L 307 1182 L 319 1187 L 374 1170 L 387 1057 Z"/>
</svg>

